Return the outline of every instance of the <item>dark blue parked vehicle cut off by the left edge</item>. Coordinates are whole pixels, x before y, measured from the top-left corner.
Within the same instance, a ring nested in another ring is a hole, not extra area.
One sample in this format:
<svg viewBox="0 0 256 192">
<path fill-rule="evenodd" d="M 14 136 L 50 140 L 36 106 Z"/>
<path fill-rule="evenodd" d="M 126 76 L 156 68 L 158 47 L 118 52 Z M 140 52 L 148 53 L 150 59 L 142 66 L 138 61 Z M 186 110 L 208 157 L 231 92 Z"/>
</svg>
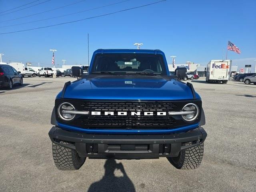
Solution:
<svg viewBox="0 0 256 192">
<path fill-rule="evenodd" d="M 0 87 L 12 89 L 14 85 L 23 85 L 23 78 L 20 71 L 10 65 L 0 64 Z"/>
</svg>

